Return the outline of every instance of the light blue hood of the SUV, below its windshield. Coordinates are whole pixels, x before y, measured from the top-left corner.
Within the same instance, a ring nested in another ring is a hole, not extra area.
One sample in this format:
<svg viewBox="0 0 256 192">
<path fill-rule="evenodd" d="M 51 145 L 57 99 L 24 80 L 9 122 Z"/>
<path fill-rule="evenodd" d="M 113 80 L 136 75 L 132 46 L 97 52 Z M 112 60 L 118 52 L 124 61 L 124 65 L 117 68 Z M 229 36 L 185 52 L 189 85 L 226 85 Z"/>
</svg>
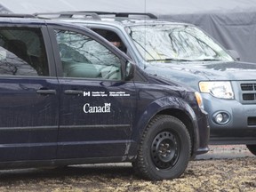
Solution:
<svg viewBox="0 0 256 192">
<path fill-rule="evenodd" d="M 148 63 L 145 72 L 187 84 L 198 90 L 200 81 L 256 81 L 256 64 L 247 62 Z"/>
</svg>

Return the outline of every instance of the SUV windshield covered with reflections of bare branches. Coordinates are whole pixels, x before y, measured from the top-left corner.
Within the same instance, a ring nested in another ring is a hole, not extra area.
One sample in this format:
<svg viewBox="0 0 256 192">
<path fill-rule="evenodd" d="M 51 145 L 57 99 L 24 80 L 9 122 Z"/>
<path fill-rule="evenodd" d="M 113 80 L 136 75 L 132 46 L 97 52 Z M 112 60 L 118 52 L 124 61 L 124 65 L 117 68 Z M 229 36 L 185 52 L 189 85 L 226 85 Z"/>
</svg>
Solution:
<svg viewBox="0 0 256 192">
<path fill-rule="evenodd" d="M 193 26 L 154 24 L 127 29 L 147 61 L 233 60 L 219 44 Z"/>
</svg>

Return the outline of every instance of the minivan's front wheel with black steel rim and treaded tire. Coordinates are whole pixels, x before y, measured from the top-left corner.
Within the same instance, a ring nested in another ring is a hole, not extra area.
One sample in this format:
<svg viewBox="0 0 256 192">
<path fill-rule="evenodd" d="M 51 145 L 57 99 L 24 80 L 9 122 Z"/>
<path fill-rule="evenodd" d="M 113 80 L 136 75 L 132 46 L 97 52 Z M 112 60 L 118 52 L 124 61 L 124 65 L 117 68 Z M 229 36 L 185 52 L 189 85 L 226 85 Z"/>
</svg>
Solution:
<svg viewBox="0 0 256 192">
<path fill-rule="evenodd" d="M 190 159 L 191 140 L 186 126 L 174 116 L 155 116 L 143 132 L 134 171 L 146 180 L 180 177 Z"/>
</svg>

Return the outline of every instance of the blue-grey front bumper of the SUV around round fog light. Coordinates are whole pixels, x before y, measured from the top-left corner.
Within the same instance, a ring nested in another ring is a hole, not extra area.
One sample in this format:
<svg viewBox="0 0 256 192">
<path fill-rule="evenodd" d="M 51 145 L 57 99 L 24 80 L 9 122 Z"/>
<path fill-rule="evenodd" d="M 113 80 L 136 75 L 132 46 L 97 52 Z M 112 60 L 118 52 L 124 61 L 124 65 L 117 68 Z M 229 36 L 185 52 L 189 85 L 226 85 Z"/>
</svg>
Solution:
<svg viewBox="0 0 256 192">
<path fill-rule="evenodd" d="M 209 116 L 211 144 L 256 144 L 256 104 L 242 104 L 238 100 L 221 100 L 202 94 Z M 219 114 L 226 119 L 216 121 Z"/>
</svg>

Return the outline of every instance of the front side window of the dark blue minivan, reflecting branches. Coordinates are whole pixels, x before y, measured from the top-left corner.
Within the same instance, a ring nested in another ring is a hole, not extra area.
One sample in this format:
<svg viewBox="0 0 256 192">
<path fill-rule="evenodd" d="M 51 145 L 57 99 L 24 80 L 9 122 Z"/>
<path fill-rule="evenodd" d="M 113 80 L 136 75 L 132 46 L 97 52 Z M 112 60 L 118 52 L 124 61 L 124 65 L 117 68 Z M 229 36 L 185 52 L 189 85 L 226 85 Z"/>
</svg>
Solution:
<svg viewBox="0 0 256 192">
<path fill-rule="evenodd" d="M 121 80 L 121 60 L 89 36 L 56 30 L 63 76 Z"/>
</svg>

